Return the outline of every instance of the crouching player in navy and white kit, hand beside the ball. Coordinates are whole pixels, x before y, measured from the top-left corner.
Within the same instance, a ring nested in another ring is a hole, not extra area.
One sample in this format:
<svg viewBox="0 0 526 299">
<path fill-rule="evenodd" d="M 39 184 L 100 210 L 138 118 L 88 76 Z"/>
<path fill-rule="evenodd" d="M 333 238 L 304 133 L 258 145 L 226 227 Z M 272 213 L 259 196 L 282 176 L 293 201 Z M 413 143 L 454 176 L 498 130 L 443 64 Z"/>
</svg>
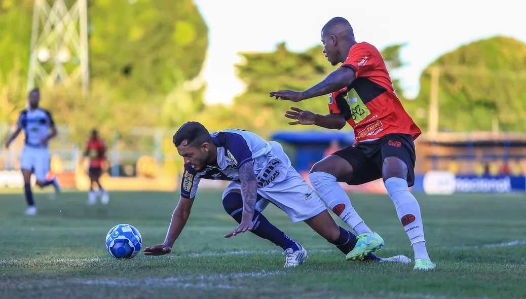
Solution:
<svg viewBox="0 0 526 299">
<path fill-rule="evenodd" d="M 222 195 L 222 203 L 239 226 L 225 237 L 251 231 L 285 251 L 286 267 L 305 261 L 307 251 L 261 214 L 268 202 L 287 213 L 292 222 L 307 223 L 343 254 L 348 254 L 355 247 L 356 236 L 336 224 L 318 195 L 292 168 L 279 143 L 266 142 L 254 133 L 238 129 L 210 135 L 200 123 L 188 122 L 175 133 L 174 145 L 185 161 L 181 198 L 172 215 L 164 244 L 145 248 L 145 255 L 171 252 L 188 220 L 201 178 L 231 181 Z M 403 255 L 381 259 L 372 254 L 364 260 L 411 261 Z"/>
</svg>

